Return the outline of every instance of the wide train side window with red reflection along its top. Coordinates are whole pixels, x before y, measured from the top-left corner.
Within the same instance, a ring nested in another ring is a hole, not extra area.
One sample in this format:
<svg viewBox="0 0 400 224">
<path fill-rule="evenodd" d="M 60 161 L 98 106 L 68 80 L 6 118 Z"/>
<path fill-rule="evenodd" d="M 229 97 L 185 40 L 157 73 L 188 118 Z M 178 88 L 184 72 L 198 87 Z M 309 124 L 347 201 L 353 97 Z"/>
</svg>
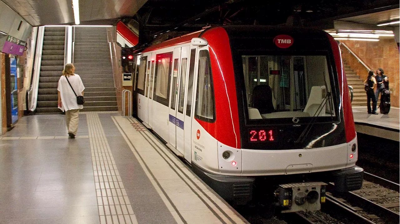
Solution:
<svg viewBox="0 0 400 224">
<path fill-rule="evenodd" d="M 168 106 L 170 100 L 171 67 L 172 52 L 156 55 L 153 99 L 165 106 Z"/>
</svg>

